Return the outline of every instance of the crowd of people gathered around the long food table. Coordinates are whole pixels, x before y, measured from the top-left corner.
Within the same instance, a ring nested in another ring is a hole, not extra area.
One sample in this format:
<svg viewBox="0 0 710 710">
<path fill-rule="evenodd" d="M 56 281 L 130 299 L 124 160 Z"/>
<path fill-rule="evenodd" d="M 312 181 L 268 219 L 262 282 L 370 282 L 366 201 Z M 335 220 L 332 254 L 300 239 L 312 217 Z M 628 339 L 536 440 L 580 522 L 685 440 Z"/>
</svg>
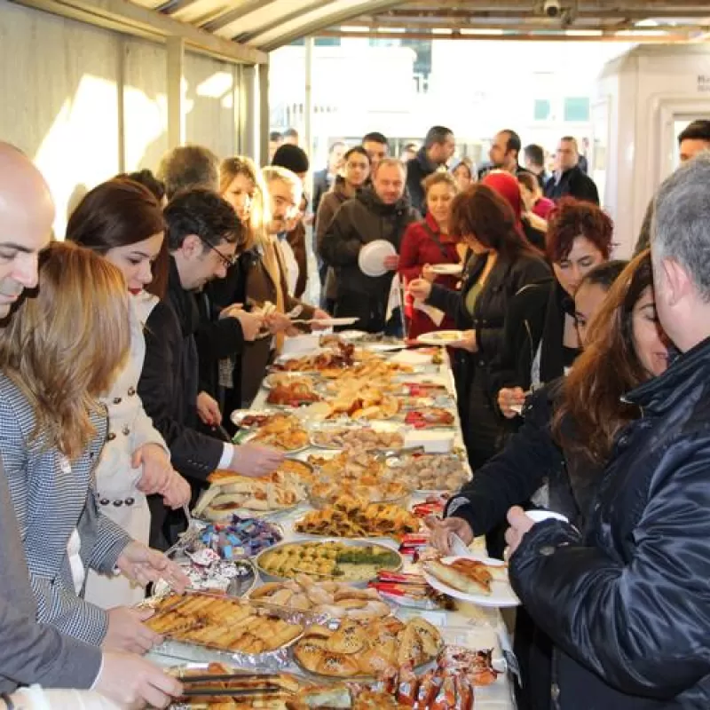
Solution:
<svg viewBox="0 0 710 710">
<path fill-rule="evenodd" d="M 710 706 L 710 122 L 679 137 L 628 263 L 574 138 L 547 176 L 513 130 L 481 173 L 446 127 L 406 163 L 371 132 L 333 144 L 312 191 L 296 131 L 271 138 L 263 169 L 180 146 L 155 175 L 110 177 L 59 240 L 42 175 L 0 144 L 0 707 L 34 685 L 67 708 L 179 694 L 140 658 L 160 637 L 136 603 L 157 580 L 185 588 L 162 551 L 209 473 L 280 465 L 233 444 L 229 414 L 331 314 L 461 331 L 474 476 L 427 524 L 442 553 L 455 533 L 509 554 L 518 706 Z M 366 272 L 378 240 L 389 256 Z"/>
</svg>

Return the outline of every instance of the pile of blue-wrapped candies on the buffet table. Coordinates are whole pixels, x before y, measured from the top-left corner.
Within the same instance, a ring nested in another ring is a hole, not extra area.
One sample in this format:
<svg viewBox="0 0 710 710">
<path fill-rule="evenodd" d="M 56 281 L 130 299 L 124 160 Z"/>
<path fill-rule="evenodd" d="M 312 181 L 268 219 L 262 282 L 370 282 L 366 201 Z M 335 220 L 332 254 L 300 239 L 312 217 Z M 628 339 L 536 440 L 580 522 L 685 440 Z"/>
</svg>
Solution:
<svg viewBox="0 0 710 710">
<path fill-rule="evenodd" d="M 256 517 L 233 516 L 229 523 L 208 525 L 202 544 L 223 560 L 239 560 L 258 555 L 283 539 L 278 525 Z"/>
</svg>

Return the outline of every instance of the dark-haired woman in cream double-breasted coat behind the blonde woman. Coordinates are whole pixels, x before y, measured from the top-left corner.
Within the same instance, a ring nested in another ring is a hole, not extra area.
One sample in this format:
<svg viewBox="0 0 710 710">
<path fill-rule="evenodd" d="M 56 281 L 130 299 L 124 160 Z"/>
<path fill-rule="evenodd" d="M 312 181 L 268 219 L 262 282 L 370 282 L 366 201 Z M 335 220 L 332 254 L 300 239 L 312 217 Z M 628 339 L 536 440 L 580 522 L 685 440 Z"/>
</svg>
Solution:
<svg viewBox="0 0 710 710">
<path fill-rule="evenodd" d="M 168 277 L 164 229 L 154 194 L 126 178 L 108 180 L 87 193 L 67 223 L 67 241 L 105 256 L 121 270 L 130 291 L 129 357 L 100 398 L 108 413 L 108 435 L 96 483 L 104 514 L 146 544 L 151 518 L 146 496 L 160 495 L 171 508 L 190 500 L 190 487 L 172 469 L 170 449 L 138 396 L 146 357 L 143 330 Z M 86 598 L 106 609 L 136 604 L 143 596 L 143 588 L 123 577 L 89 573 Z"/>
</svg>

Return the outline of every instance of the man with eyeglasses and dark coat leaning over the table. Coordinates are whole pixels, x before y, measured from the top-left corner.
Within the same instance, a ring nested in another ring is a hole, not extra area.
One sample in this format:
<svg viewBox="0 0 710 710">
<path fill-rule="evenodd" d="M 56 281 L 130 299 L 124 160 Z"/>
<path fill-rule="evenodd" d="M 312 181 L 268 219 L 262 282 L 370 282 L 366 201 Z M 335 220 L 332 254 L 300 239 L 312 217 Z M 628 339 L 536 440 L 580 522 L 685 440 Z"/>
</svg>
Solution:
<svg viewBox="0 0 710 710">
<path fill-rule="evenodd" d="M 254 444 L 233 446 L 199 432 L 204 416 L 198 412 L 201 378 L 195 334 L 200 314 L 194 294 L 209 280 L 225 278 L 246 236 L 239 218 L 229 202 L 201 188 L 177 193 L 164 215 L 170 250 L 168 293 L 146 322 L 146 362 L 138 393 L 170 446 L 173 465 L 198 493 L 215 469 L 264 476 L 279 466 L 283 454 Z M 151 541 L 164 548 L 185 528 L 185 520 L 181 513 L 164 509 L 161 500 L 149 502 Z"/>
</svg>

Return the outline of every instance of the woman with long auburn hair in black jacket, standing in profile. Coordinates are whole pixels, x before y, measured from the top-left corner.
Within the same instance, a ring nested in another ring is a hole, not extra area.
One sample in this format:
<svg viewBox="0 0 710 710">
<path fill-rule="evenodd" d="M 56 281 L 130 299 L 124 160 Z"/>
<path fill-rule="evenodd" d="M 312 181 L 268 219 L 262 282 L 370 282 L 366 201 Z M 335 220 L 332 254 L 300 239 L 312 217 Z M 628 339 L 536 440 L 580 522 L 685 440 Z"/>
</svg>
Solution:
<svg viewBox="0 0 710 710">
<path fill-rule="evenodd" d="M 455 371 L 469 461 L 477 469 L 500 447 L 500 415 L 490 383 L 510 301 L 527 284 L 548 279 L 549 269 L 520 233 L 509 203 L 488 185 L 473 185 L 454 198 L 449 233 L 464 241 L 473 255 L 461 291 L 417 279 L 409 292 L 466 331 L 463 340 L 454 343 L 459 349 Z"/>
</svg>

